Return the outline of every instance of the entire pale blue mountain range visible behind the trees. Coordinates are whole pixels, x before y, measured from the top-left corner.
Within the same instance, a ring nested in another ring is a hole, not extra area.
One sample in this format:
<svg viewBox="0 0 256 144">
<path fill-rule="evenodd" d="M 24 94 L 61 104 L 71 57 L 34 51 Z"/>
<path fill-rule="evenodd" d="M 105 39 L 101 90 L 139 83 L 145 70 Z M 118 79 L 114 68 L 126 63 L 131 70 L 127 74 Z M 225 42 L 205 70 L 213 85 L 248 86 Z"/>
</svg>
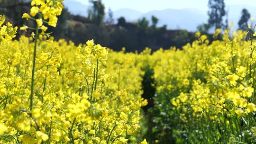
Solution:
<svg viewBox="0 0 256 144">
<path fill-rule="evenodd" d="M 76 0 L 65 0 L 64 6 L 69 9 L 72 14 L 88 16 L 88 5 L 84 5 Z M 250 5 L 228 5 L 226 9 L 229 11 L 229 23 L 234 22 L 234 29 L 238 28 L 238 20 L 241 17 L 242 9 L 246 8 L 252 17 L 256 17 L 256 7 Z M 106 9 L 106 17 L 107 17 Z M 186 29 L 188 31 L 196 31 L 196 27 L 200 24 L 207 23 L 207 11 L 201 11 L 195 8 L 188 9 L 163 9 L 152 10 L 142 13 L 133 9 L 119 9 L 113 11 L 115 21 L 117 18 L 125 17 L 127 21 L 134 22 L 139 18 L 146 17 L 151 21 L 151 16 L 159 19 L 158 26 L 167 25 L 169 29 Z M 224 18 L 224 20 L 226 17 Z"/>
</svg>

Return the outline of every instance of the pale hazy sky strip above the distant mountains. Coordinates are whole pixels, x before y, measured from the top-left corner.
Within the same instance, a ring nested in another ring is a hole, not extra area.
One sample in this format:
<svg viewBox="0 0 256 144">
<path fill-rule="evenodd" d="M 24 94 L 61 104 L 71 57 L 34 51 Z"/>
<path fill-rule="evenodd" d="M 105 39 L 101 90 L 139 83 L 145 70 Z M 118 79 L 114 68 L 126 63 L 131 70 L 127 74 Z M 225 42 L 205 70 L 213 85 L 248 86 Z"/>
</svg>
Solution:
<svg viewBox="0 0 256 144">
<path fill-rule="evenodd" d="M 88 5 L 89 0 L 77 0 Z M 107 9 L 118 10 L 123 8 L 141 12 L 160 9 L 196 8 L 206 11 L 208 0 L 102 0 Z M 225 0 L 226 5 L 247 4 L 256 6 L 256 0 Z"/>
</svg>

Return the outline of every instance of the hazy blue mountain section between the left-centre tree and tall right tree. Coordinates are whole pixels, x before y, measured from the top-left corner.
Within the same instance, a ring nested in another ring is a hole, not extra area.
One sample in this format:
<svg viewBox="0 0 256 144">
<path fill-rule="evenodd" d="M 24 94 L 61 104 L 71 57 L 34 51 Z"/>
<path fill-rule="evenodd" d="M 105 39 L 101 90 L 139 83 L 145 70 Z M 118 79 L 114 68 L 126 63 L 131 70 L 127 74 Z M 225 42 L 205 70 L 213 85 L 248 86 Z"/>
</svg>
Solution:
<svg viewBox="0 0 256 144">
<path fill-rule="evenodd" d="M 199 24 L 207 21 L 207 13 L 198 9 L 164 9 L 152 10 L 147 13 L 133 9 L 119 9 L 113 14 L 115 19 L 123 16 L 127 21 L 137 21 L 139 18 L 145 17 L 151 22 L 151 16 L 155 16 L 159 19 L 159 27 L 167 25 L 169 29 L 187 29 L 189 31 L 195 31 Z"/>
</svg>

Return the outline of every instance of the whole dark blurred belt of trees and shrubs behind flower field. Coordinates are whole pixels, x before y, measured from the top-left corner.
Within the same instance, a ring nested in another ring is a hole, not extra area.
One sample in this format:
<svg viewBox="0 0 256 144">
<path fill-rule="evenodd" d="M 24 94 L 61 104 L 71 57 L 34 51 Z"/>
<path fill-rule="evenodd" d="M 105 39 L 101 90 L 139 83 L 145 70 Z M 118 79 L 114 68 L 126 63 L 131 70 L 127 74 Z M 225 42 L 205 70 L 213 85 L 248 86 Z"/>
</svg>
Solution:
<svg viewBox="0 0 256 144">
<path fill-rule="evenodd" d="M 116 51 L 126 47 L 126 51 L 142 51 L 145 47 L 152 48 L 153 51 L 160 47 L 168 49 L 171 46 L 181 48 L 182 45 L 191 43 L 195 37 L 194 32 L 187 30 L 170 30 L 166 25 L 157 27 L 158 18 L 152 16 L 151 19 L 140 18 L 137 22 L 128 22 L 124 17 L 113 18 L 111 9 L 106 12 L 104 3 L 101 0 L 89 0 L 91 7 L 88 16 L 73 15 L 68 9 L 64 9 L 59 17 L 57 27 L 51 27 L 52 36 L 55 40 L 64 38 L 72 40 L 76 45 L 84 43 L 88 39 L 94 39 L 101 45 L 108 46 Z M 29 11 L 30 0 L 0 0 L 0 14 L 6 15 L 8 21 L 15 26 L 21 27 L 27 21 L 21 16 Z M 209 34 L 210 28 L 228 27 L 228 20 L 224 19 L 228 12 L 225 11 L 224 0 L 209 0 L 209 20 L 208 23 L 197 27 L 201 33 Z M 242 10 L 239 20 L 239 29 L 247 29 L 247 22 L 250 14 L 247 9 Z M 116 21 L 116 23 L 114 23 Z M 18 31 L 18 36 L 24 35 Z M 18 37 L 17 37 L 18 38 Z"/>
</svg>

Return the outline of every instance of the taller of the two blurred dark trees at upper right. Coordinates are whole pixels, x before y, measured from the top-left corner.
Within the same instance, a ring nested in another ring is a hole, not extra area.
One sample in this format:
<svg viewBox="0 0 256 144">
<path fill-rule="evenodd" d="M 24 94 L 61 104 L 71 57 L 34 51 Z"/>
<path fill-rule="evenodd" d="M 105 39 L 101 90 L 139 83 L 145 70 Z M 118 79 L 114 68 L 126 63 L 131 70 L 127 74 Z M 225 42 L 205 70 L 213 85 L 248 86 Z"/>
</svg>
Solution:
<svg viewBox="0 0 256 144">
<path fill-rule="evenodd" d="M 222 18 L 226 15 L 224 0 L 209 0 L 208 7 L 209 26 L 215 29 L 223 27 Z"/>
</svg>

